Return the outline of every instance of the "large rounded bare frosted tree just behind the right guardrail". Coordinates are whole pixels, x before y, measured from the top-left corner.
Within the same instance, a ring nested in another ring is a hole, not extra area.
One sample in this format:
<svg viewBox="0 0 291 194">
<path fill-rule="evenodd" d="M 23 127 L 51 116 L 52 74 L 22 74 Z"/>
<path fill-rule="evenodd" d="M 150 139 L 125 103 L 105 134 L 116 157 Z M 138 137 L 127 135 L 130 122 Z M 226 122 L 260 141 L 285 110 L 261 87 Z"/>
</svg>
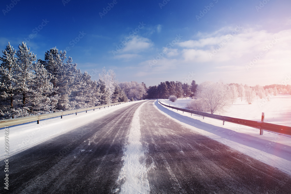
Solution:
<svg viewBox="0 0 291 194">
<path fill-rule="evenodd" d="M 231 102 L 230 88 L 222 82 L 203 82 L 197 90 L 197 97 L 207 105 L 211 114 L 223 111 Z"/>
</svg>

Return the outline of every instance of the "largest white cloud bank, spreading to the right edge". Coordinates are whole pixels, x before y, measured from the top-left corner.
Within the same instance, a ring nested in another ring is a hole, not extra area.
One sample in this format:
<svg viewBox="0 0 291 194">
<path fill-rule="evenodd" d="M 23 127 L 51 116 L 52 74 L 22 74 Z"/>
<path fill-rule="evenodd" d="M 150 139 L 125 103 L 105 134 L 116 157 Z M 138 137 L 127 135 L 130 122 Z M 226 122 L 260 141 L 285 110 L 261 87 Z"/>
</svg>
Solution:
<svg viewBox="0 0 291 194">
<path fill-rule="evenodd" d="M 140 75 L 167 72 L 174 79 L 179 73 L 195 70 L 197 82 L 223 79 L 226 83 L 254 86 L 278 83 L 285 74 L 291 73 L 291 29 L 276 33 L 253 28 L 234 33 L 234 29 L 225 27 L 214 33 L 199 33 L 197 40 L 177 43 L 178 47 L 171 49 L 163 48 L 167 54 L 152 68 L 148 64 L 152 60 L 140 63 L 144 72 Z M 250 61 L 256 63 L 247 69 Z"/>
</svg>

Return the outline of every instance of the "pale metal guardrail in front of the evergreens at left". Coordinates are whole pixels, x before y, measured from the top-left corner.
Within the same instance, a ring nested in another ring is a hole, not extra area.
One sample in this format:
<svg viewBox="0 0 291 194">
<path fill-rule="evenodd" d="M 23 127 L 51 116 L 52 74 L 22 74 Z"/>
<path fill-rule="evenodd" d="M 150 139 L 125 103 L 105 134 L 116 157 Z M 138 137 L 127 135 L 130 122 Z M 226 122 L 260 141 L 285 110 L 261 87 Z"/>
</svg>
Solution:
<svg viewBox="0 0 291 194">
<path fill-rule="evenodd" d="M 5 127 L 5 126 L 9 127 L 9 126 L 17 125 L 17 124 L 33 122 L 33 121 L 37 121 L 37 123 L 39 124 L 40 120 L 59 117 L 59 116 L 63 118 L 64 115 L 70 115 L 74 113 L 76 113 L 77 115 L 77 113 L 84 112 L 84 111 L 86 111 L 87 113 L 87 111 L 95 110 L 97 108 L 101 109 L 103 107 L 105 108 L 106 106 L 108 107 L 115 106 L 117 104 L 123 104 L 123 103 L 124 102 L 118 102 L 118 103 L 107 104 L 107 105 L 102 105 L 102 106 L 80 108 L 80 109 L 75 109 L 75 110 L 70 110 L 70 111 L 61 111 L 61 112 L 56 112 L 56 113 L 47 113 L 47 114 L 33 115 L 33 116 L 27 116 L 27 117 L 19 117 L 19 118 L 14 118 L 14 119 L 4 119 L 4 120 L 0 120 L 0 128 Z"/>
</svg>

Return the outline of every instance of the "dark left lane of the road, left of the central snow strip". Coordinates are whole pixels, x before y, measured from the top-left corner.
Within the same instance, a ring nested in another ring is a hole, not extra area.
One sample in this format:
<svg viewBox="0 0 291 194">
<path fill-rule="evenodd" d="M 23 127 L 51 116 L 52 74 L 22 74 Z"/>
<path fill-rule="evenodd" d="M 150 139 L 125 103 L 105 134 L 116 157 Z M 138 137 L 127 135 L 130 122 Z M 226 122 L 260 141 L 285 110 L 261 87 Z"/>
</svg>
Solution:
<svg viewBox="0 0 291 194">
<path fill-rule="evenodd" d="M 120 187 L 130 124 L 142 103 L 10 156 L 9 191 L 2 187 L 1 193 L 113 193 Z"/>
</svg>

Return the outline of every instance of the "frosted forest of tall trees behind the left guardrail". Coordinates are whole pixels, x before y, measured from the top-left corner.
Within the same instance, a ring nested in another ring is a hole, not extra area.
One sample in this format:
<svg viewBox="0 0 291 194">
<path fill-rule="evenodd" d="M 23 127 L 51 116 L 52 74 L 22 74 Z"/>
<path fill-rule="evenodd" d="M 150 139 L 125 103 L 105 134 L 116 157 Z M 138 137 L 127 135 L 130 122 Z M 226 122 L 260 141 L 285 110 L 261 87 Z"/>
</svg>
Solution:
<svg viewBox="0 0 291 194">
<path fill-rule="evenodd" d="M 103 68 L 93 81 L 66 51 L 52 48 L 37 59 L 22 42 L 17 50 L 8 43 L 2 53 L 0 119 L 128 101 L 113 70 Z"/>
</svg>

